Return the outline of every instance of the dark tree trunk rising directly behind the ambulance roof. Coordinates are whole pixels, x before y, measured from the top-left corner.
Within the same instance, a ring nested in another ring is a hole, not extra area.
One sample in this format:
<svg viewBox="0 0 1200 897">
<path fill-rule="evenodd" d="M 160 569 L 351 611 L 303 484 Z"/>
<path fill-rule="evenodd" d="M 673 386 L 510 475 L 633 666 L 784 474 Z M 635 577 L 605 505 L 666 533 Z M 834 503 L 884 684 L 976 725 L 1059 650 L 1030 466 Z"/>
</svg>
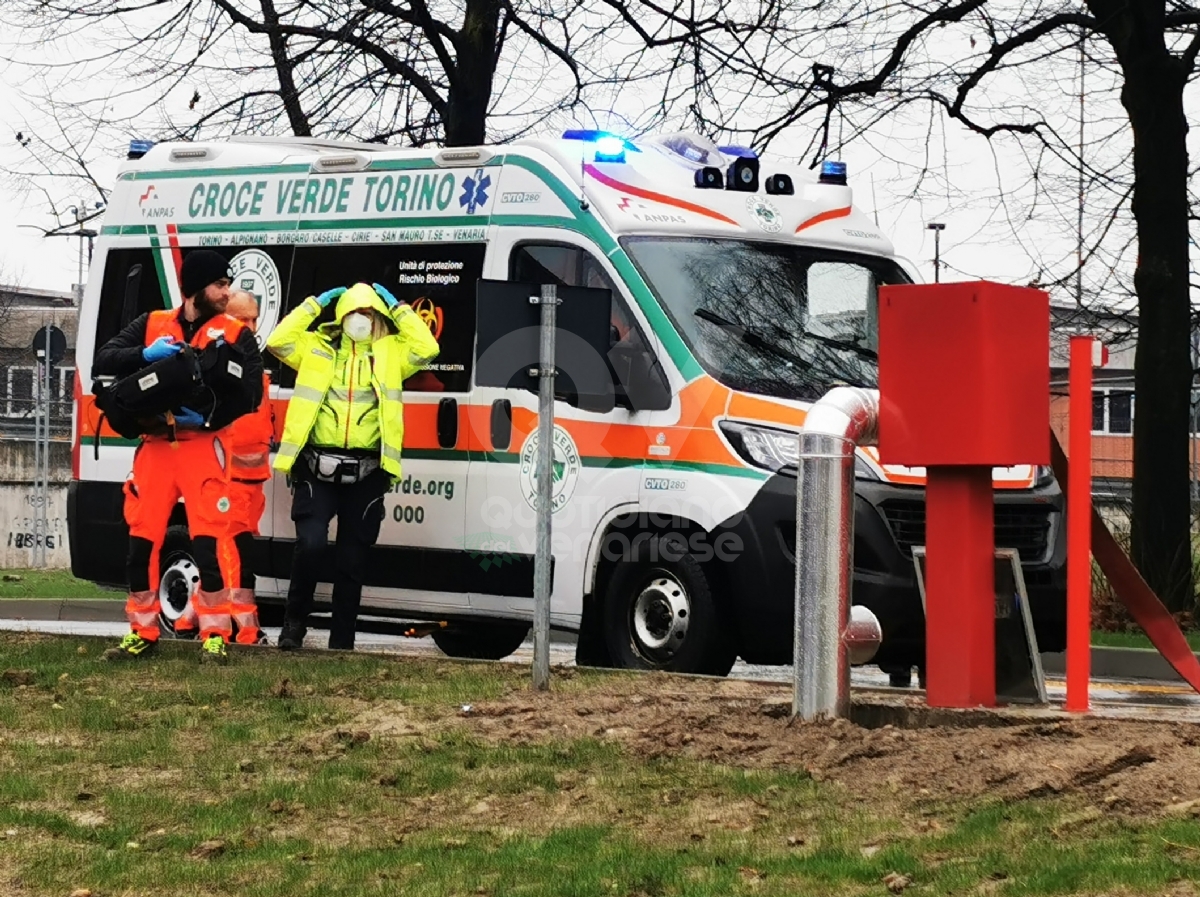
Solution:
<svg viewBox="0 0 1200 897">
<path fill-rule="evenodd" d="M 446 146 L 475 146 L 487 139 L 499 24 L 499 0 L 467 0 L 446 98 Z"/>
</svg>

